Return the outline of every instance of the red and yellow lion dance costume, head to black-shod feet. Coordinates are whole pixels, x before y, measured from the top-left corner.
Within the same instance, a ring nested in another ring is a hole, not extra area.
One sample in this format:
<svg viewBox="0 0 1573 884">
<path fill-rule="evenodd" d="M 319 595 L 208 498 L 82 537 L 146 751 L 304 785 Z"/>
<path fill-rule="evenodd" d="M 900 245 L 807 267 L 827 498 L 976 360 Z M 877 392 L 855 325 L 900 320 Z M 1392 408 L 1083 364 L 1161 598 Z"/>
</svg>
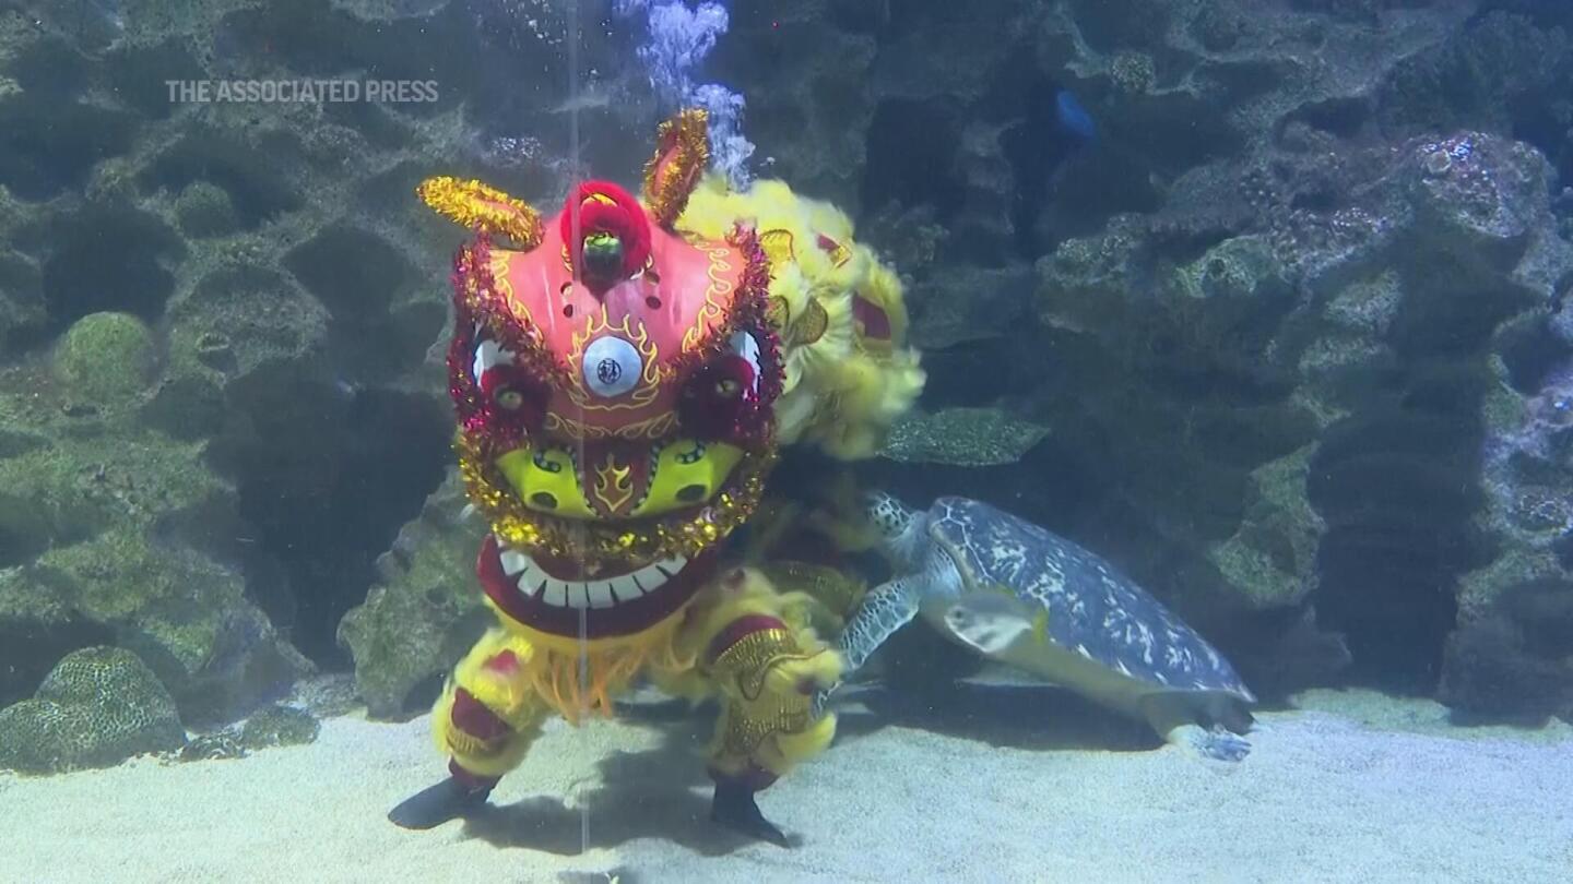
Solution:
<svg viewBox="0 0 1573 884">
<path fill-rule="evenodd" d="M 587 181 L 543 222 L 478 181 L 418 189 L 475 231 L 448 371 L 497 624 L 433 711 L 450 777 L 395 823 L 484 804 L 549 714 L 610 714 L 640 678 L 719 702 L 711 816 L 752 835 L 782 843 L 755 793 L 831 742 L 810 698 L 842 661 L 815 599 L 725 541 L 780 445 L 868 456 L 923 374 L 900 283 L 846 215 L 777 181 L 731 192 L 708 159 L 687 110 L 658 131 L 642 201 Z"/>
</svg>

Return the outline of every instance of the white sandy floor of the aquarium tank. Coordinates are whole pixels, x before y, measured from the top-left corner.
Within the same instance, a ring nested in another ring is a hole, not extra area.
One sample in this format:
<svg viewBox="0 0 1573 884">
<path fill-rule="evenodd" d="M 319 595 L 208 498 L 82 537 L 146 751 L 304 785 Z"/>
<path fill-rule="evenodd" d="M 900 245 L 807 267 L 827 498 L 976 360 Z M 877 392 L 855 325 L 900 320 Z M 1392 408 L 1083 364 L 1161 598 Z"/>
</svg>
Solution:
<svg viewBox="0 0 1573 884">
<path fill-rule="evenodd" d="M 1567 725 L 1455 728 L 1435 703 L 1315 692 L 1263 713 L 1230 766 L 1060 695 L 865 700 L 878 716 L 849 709 L 761 796 L 793 849 L 706 820 L 703 714 L 554 724 L 494 810 L 429 832 L 384 820 L 442 774 L 426 719 L 346 716 L 244 760 L 0 774 L 0 881 L 1573 881 Z"/>
</svg>

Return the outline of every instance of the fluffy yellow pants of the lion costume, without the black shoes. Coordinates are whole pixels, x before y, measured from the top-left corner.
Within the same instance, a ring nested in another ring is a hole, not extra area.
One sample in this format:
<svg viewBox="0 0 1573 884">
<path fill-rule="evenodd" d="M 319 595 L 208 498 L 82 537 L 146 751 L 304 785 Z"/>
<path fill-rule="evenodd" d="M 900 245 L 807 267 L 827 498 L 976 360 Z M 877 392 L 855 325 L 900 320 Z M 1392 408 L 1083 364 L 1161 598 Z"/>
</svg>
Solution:
<svg viewBox="0 0 1573 884">
<path fill-rule="evenodd" d="M 764 788 L 835 736 L 834 716 L 810 713 L 813 692 L 842 673 L 840 656 L 809 626 L 812 606 L 739 568 L 634 635 L 579 642 L 499 612 L 433 709 L 437 747 L 456 775 L 500 777 L 524 761 L 547 714 L 574 724 L 610 716 L 615 695 L 645 676 L 675 697 L 716 697 L 711 775 Z"/>
</svg>

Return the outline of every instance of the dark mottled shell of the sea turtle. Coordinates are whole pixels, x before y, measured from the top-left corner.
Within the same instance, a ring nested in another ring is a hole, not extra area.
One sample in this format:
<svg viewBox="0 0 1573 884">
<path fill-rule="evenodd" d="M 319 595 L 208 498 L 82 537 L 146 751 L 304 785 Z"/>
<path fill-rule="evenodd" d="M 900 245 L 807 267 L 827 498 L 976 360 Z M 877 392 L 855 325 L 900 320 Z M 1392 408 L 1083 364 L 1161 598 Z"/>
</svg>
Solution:
<svg viewBox="0 0 1573 884">
<path fill-rule="evenodd" d="M 928 532 L 967 590 L 1000 587 L 1048 610 L 1048 639 L 1123 676 L 1254 703 L 1235 669 L 1194 629 L 1100 555 L 1004 510 L 941 497 Z"/>
</svg>

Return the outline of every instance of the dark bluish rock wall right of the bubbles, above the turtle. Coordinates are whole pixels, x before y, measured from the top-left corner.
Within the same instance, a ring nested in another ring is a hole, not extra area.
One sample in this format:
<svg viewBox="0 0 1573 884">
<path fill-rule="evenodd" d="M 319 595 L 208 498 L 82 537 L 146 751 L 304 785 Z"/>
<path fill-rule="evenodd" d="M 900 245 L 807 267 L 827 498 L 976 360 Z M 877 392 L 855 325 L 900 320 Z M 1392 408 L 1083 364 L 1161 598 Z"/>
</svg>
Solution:
<svg viewBox="0 0 1573 884">
<path fill-rule="evenodd" d="M 1573 11 L 851 9 L 738 14 L 760 154 L 900 264 L 926 409 L 1051 428 L 1019 464 L 886 481 L 1111 555 L 1265 691 L 1573 714 Z"/>
</svg>

